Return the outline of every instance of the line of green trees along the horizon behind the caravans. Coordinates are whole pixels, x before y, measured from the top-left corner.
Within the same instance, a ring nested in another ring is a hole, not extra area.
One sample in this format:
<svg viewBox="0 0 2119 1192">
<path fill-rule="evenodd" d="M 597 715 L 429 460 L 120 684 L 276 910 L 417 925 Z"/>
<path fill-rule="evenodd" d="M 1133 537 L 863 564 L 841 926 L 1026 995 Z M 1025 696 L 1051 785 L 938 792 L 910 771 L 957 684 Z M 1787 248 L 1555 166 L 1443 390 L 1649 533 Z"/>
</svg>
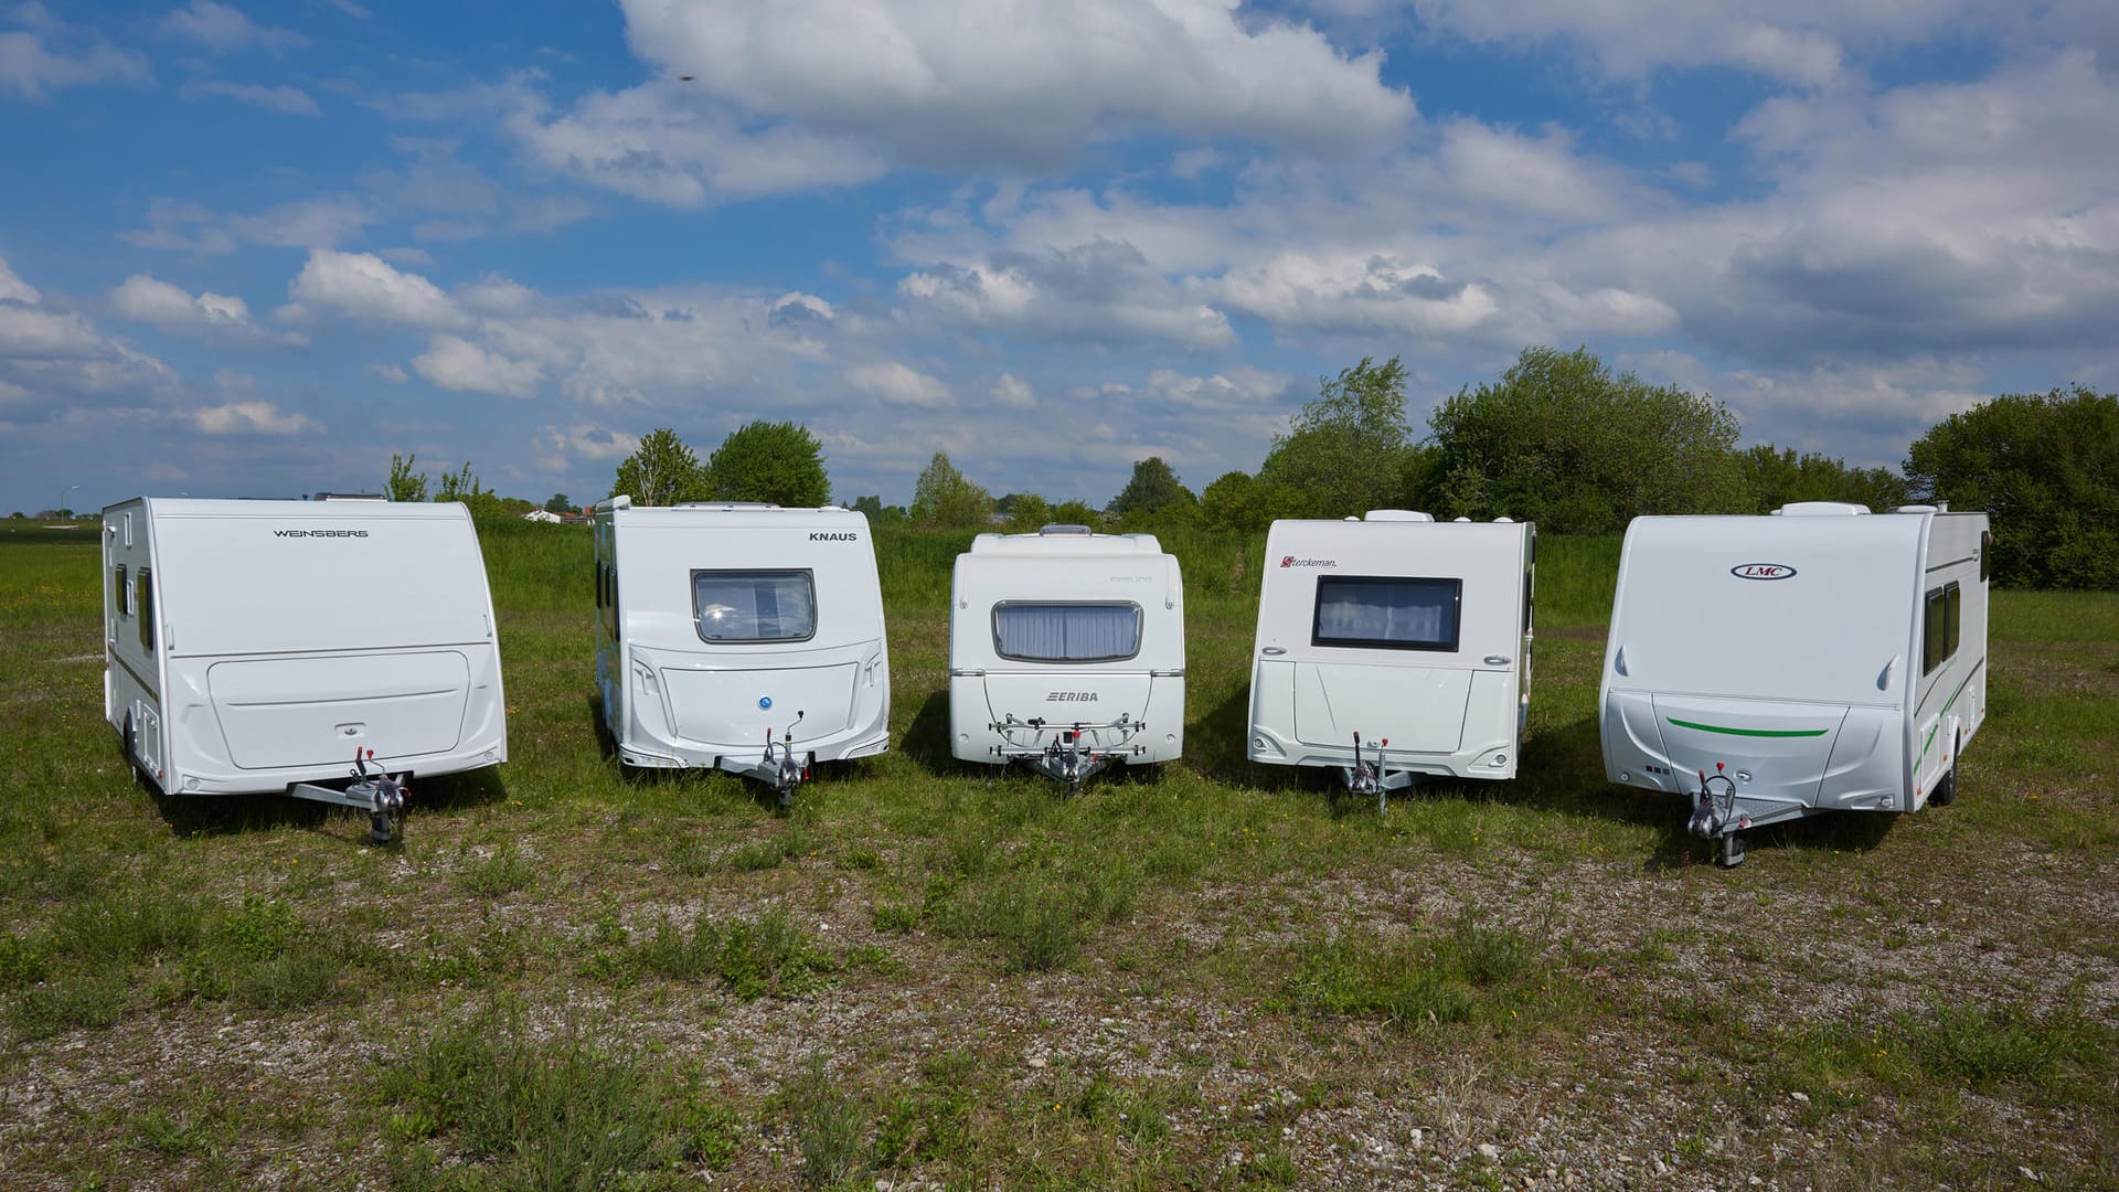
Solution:
<svg viewBox="0 0 2119 1192">
<path fill-rule="evenodd" d="M 2119 395 L 2070 386 L 2002 395 L 1928 426 L 1899 471 L 1850 467 L 1774 443 L 1740 448 L 1725 403 L 1615 373 L 1583 348 L 1530 346 L 1494 382 L 1462 386 L 1415 437 L 1399 356 L 1318 380 L 1252 473 L 1227 471 L 1193 492 L 1161 456 L 1134 464 L 1104 507 L 1036 492 L 994 496 L 934 452 L 911 505 L 841 496 L 871 522 L 968 530 L 1085 524 L 1115 532 L 1187 528 L 1259 532 L 1280 518 L 1424 509 L 1441 520 L 1515 518 L 1557 534 L 1617 534 L 1651 513 L 1769 513 L 1797 501 L 1869 509 L 1947 503 L 1994 520 L 1994 575 L 2017 588 L 2119 588 Z M 426 501 L 428 477 L 392 456 L 392 501 Z M 797 422 L 748 422 L 701 462 L 674 428 L 642 437 L 610 494 L 640 505 L 769 501 L 831 505 L 824 450 Z M 475 515 L 528 513 L 466 462 L 434 501 Z M 551 511 L 578 511 L 553 494 Z"/>
</svg>

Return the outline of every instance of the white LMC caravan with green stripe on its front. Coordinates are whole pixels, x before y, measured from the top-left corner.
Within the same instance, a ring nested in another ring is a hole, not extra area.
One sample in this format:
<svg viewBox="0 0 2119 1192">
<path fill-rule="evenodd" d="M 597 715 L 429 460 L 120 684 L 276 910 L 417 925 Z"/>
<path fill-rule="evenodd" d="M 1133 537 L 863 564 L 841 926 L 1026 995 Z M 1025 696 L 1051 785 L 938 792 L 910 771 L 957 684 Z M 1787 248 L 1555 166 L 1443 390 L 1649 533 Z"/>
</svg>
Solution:
<svg viewBox="0 0 2119 1192">
<path fill-rule="evenodd" d="M 1636 518 L 1600 691 L 1604 776 L 1685 793 L 1744 859 L 1746 827 L 1956 795 L 1986 719 L 1986 513 L 1801 503 Z"/>
</svg>

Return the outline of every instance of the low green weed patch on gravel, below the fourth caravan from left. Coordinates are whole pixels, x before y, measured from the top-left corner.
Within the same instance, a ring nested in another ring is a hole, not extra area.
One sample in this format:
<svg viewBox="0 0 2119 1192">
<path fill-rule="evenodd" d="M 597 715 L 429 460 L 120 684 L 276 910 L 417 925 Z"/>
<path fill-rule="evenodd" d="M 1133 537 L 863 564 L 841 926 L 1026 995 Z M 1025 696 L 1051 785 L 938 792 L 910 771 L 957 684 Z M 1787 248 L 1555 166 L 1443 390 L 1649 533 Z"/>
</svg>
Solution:
<svg viewBox="0 0 2119 1192">
<path fill-rule="evenodd" d="M 1288 997 L 1303 1010 L 1384 1016 L 1411 1027 L 1464 1022 L 1473 1014 L 1471 993 L 1418 940 L 1348 927 L 1303 942 L 1295 967 Z"/>
</svg>

